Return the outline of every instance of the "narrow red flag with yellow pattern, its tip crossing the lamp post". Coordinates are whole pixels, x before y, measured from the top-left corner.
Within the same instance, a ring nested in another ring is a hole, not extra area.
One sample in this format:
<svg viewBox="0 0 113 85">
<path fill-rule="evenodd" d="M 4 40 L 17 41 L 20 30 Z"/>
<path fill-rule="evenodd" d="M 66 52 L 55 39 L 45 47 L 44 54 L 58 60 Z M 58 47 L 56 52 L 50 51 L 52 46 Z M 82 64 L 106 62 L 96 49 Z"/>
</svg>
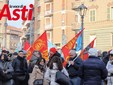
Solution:
<svg viewBox="0 0 113 85">
<path fill-rule="evenodd" d="M 81 30 L 79 33 L 77 33 L 73 39 L 71 39 L 66 45 L 64 45 L 62 47 L 62 53 L 64 55 L 64 60 L 65 60 L 64 66 L 66 65 L 66 63 L 69 59 L 69 51 L 74 48 L 76 40 L 77 40 L 78 36 L 80 36 L 80 34 L 83 32 L 83 30 Z"/>
</svg>

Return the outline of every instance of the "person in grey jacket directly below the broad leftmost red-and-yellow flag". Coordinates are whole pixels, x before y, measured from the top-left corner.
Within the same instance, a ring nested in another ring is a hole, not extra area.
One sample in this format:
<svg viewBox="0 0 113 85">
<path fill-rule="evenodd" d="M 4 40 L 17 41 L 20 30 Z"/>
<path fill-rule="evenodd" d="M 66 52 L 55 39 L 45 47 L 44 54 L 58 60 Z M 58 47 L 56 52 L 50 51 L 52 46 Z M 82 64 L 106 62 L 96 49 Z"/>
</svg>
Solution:
<svg viewBox="0 0 113 85">
<path fill-rule="evenodd" d="M 42 54 L 41 52 L 35 50 L 29 63 L 29 73 L 32 73 L 34 65 L 36 64 L 38 58 L 42 58 Z"/>
</svg>

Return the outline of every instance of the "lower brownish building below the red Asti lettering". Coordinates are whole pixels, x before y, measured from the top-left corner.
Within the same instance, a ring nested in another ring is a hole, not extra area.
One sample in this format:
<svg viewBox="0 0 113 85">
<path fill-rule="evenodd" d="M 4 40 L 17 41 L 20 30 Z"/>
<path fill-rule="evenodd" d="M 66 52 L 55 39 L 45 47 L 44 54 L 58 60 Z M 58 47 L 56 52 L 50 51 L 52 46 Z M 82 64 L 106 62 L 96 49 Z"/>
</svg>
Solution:
<svg viewBox="0 0 113 85">
<path fill-rule="evenodd" d="M 14 52 L 17 48 L 17 45 L 20 44 L 20 38 L 22 36 L 21 28 L 16 28 L 12 26 L 7 26 L 6 31 L 6 46 L 10 52 Z"/>
</svg>

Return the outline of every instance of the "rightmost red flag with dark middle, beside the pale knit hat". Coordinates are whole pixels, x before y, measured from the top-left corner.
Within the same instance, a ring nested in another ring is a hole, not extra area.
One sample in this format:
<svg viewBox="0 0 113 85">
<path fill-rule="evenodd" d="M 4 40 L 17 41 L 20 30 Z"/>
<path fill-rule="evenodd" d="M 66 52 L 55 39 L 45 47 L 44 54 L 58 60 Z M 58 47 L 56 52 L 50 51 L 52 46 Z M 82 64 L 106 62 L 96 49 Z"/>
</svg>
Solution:
<svg viewBox="0 0 113 85">
<path fill-rule="evenodd" d="M 96 39 L 96 38 L 95 38 L 95 39 Z M 93 48 L 93 47 L 94 47 L 95 39 L 94 39 L 92 42 L 90 42 L 90 44 L 89 44 L 85 49 L 83 49 L 83 50 L 81 51 L 80 57 L 81 57 L 82 60 L 87 60 L 87 59 L 88 59 L 88 50 L 89 50 L 90 48 Z"/>
</svg>

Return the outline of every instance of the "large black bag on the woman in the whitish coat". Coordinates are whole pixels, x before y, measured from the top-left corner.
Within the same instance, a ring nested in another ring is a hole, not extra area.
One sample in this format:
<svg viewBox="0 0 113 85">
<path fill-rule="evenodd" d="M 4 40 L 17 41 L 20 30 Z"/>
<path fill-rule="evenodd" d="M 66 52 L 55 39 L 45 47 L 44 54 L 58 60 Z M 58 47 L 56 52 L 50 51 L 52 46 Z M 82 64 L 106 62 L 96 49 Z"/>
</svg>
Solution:
<svg viewBox="0 0 113 85">
<path fill-rule="evenodd" d="M 56 72 L 55 82 L 61 85 L 69 85 L 69 78 L 61 71 Z"/>
</svg>

